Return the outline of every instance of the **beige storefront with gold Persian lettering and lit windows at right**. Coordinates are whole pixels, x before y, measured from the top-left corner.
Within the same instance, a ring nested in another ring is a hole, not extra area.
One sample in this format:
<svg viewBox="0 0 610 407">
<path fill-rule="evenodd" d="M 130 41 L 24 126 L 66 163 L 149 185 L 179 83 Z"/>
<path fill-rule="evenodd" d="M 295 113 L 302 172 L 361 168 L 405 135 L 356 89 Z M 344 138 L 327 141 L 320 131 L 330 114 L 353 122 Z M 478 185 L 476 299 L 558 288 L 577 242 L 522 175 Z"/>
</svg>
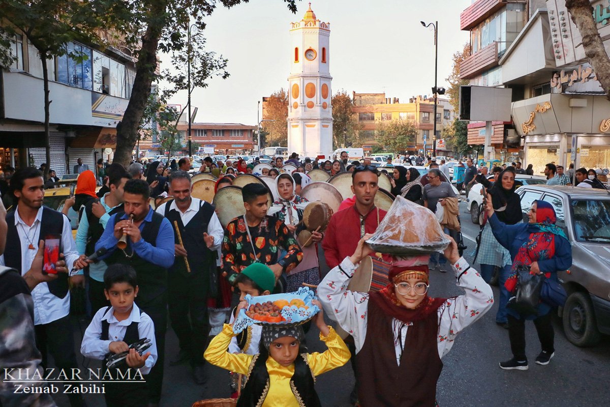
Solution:
<svg viewBox="0 0 610 407">
<path fill-rule="evenodd" d="M 534 175 L 544 173 L 548 163 L 567 168 L 573 137 L 576 168 L 610 167 L 610 102 L 605 96 L 537 96 L 512 103 L 512 118 L 524 137 L 524 166 L 533 164 Z"/>
</svg>

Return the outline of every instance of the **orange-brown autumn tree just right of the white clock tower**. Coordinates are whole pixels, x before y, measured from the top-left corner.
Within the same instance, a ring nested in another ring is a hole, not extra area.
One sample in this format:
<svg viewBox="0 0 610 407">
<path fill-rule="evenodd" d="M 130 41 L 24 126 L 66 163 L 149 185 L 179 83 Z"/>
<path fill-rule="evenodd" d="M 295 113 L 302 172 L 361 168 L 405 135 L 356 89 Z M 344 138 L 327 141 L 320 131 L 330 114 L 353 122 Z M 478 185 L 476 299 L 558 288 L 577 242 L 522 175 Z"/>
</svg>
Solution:
<svg viewBox="0 0 610 407">
<path fill-rule="evenodd" d="M 354 116 L 353 101 L 345 90 L 332 96 L 332 140 L 334 148 L 361 147 L 359 130 L 362 124 Z"/>
</svg>

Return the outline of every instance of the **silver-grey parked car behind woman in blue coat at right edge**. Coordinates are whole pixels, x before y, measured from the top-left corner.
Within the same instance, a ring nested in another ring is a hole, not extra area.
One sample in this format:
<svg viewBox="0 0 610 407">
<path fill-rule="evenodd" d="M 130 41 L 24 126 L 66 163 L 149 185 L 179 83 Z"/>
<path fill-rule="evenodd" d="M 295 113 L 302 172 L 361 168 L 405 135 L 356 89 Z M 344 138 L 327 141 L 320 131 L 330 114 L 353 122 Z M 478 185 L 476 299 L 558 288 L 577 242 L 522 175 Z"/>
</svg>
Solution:
<svg viewBox="0 0 610 407">
<path fill-rule="evenodd" d="M 610 334 L 610 195 L 608 191 L 525 185 L 517 189 L 523 218 L 534 200 L 551 203 L 572 245 L 572 267 L 558 273 L 568 298 L 559 308 L 565 337 L 576 346 Z"/>
</svg>

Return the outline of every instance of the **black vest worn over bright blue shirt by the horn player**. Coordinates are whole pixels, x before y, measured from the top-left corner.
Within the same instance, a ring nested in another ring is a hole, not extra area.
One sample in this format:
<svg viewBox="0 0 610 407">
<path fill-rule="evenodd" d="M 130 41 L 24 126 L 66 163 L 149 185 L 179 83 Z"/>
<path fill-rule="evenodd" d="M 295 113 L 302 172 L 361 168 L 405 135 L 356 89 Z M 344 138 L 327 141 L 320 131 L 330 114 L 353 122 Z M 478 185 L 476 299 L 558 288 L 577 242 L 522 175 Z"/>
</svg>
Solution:
<svg viewBox="0 0 610 407">
<path fill-rule="evenodd" d="M 118 212 L 114 217 L 114 224 L 112 226 L 106 225 L 106 227 L 114 228 L 124 214 L 125 212 L 123 211 Z M 161 222 L 163 222 L 163 215 L 159 215 L 157 212 L 153 211 L 152 221 L 145 222 L 144 228 L 142 229 L 142 239 L 144 239 L 145 242 L 150 243 L 153 247 L 157 242 L 157 235 L 159 235 Z M 132 254 L 131 258 L 127 257 L 127 254 Z M 140 287 L 135 302 L 140 308 L 142 308 L 142 304 L 150 303 L 167 291 L 167 268 L 152 264 L 146 259 L 140 258 L 131 247 L 131 241 L 129 239 L 127 239 L 127 247 L 124 251 L 117 248 L 108 258 L 104 259 L 104 261 L 108 265 L 115 263 L 127 264 L 135 269 L 138 286 Z"/>
</svg>

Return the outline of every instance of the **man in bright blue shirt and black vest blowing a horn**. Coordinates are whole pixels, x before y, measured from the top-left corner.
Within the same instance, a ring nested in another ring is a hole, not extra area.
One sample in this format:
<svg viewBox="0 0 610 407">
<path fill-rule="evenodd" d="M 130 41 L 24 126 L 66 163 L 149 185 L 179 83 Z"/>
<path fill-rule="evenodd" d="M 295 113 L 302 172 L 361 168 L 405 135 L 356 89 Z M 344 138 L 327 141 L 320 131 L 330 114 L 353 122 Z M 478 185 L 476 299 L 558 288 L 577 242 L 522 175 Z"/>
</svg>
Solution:
<svg viewBox="0 0 610 407">
<path fill-rule="evenodd" d="M 174 235 L 170 221 L 148 204 L 150 190 L 143 179 L 130 179 L 123 187 L 124 211 L 112 215 L 95 250 L 108 250 L 106 264 L 129 264 L 140 290 L 135 303 L 154 322 L 159 358 L 146 376 L 149 406 L 159 405 L 163 384 L 165 331 L 167 330 L 167 270 L 174 264 Z M 117 248 L 123 234 L 126 247 Z"/>
</svg>

